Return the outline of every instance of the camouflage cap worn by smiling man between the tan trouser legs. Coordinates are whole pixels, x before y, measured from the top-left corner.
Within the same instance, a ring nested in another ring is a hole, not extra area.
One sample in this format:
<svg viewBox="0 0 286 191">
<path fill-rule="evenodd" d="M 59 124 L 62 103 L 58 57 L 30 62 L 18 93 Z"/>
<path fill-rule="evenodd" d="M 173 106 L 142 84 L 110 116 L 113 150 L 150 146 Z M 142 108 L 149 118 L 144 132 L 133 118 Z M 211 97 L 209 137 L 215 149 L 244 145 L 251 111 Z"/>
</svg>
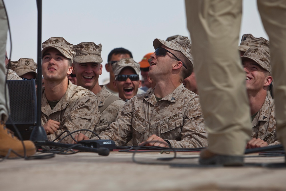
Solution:
<svg viewBox="0 0 286 191">
<path fill-rule="evenodd" d="M 270 53 L 267 48 L 251 47 L 249 48 L 243 56 L 240 57 L 242 61 L 249 58 L 259 64 L 263 69 L 271 73 L 271 60 Z"/>
</svg>

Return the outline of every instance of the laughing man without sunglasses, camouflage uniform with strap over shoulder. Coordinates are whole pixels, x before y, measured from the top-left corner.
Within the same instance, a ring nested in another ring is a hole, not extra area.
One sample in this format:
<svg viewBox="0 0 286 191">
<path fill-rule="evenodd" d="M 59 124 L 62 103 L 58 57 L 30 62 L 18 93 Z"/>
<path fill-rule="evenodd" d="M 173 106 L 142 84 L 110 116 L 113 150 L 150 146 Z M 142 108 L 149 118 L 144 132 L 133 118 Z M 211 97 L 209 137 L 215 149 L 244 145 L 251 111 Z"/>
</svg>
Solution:
<svg viewBox="0 0 286 191">
<path fill-rule="evenodd" d="M 103 85 L 99 85 L 98 78 L 102 74 L 102 65 L 100 64 L 102 62 L 102 45 L 96 45 L 94 42 L 81 42 L 74 48 L 76 55 L 73 66 L 77 85 L 96 94 L 100 120 L 94 128 L 94 132 L 101 133 L 106 130 L 110 123 L 115 121 L 125 102 L 108 92 Z M 93 134 L 92 137 L 94 136 Z"/>
</svg>

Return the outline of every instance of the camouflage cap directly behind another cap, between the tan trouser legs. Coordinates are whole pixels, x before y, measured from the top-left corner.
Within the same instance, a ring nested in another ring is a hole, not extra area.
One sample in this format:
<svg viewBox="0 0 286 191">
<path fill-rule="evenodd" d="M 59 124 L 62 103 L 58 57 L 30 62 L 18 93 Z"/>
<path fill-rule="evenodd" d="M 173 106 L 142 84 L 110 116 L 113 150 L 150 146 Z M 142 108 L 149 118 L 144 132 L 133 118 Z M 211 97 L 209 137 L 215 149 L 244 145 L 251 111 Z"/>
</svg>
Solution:
<svg viewBox="0 0 286 191">
<path fill-rule="evenodd" d="M 262 37 L 255 38 L 252 36 L 252 34 L 244 34 L 241 38 L 241 43 L 238 46 L 238 49 L 246 52 L 251 47 L 262 47 L 269 49 L 269 41 Z"/>
</svg>

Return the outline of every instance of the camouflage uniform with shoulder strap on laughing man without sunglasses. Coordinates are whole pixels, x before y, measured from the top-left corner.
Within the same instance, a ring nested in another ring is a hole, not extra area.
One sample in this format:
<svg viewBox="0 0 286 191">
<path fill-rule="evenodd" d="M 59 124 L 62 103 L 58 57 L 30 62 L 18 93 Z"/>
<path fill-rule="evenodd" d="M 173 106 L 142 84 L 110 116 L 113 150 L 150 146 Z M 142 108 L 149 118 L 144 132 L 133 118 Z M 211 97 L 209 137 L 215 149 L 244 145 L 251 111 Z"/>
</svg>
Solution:
<svg viewBox="0 0 286 191">
<path fill-rule="evenodd" d="M 99 107 L 102 107 L 106 100 L 114 97 L 112 93 L 106 90 L 105 86 L 101 85 L 101 87 L 102 89 L 100 92 L 96 94 Z M 105 131 L 108 125 L 115 121 L 118 112 L 121 111 L 124 104 L 125 102 L 122 99 L 118 99 L 112 102 L 106 109 L 104 109 L 104 111 L 100 113 L 100 122 L 96 125 L 94 132 L 101 133 L 102 131 Z M 94 137 L 94 135 L 92 135 L 92 137 Z"/>
</svg>

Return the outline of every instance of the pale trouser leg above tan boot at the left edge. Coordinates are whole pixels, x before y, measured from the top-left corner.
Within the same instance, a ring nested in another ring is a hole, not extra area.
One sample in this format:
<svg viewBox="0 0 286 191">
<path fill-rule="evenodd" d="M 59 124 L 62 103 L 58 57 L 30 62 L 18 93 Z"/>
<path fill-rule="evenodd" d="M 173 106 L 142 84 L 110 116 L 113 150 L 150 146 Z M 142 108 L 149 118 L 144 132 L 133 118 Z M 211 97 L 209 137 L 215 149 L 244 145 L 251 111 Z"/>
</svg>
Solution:
<svg viewBox="0 0 286 191">
<path fill-rule="evenodd" d="M 7 105 L 5 100 L 5 51 L 6 51 L 6 40 L 7 40 L 7 17 L 3 6 L 3 0 L 0 0 L 0 120 L 6 121 L 8 119 L 9 110 L 9 96 L 7 96 Z M 8 95 L 8 90 L 6 91 Z M 8 108 L 7 108 L 8 107 Z"/>
</svg>

